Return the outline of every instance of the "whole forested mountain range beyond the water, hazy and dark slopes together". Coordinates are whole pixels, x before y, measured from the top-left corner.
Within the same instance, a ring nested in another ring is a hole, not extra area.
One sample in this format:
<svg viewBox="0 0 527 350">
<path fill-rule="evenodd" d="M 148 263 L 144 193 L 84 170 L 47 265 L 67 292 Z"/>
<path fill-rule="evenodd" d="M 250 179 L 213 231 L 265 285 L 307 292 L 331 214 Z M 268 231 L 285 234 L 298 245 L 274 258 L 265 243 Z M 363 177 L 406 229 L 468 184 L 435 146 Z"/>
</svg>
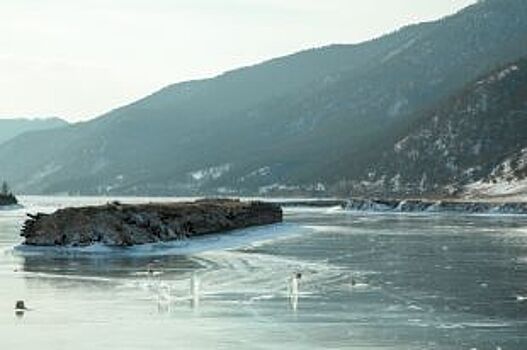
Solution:
<svg viewBox="0 0 527 350">
<path fill-rule="evenodd" d="M 515 194 L 527 176 L 526 18 L 525 0 L 479 1 L 171 85 L 11 138 L 0 178 L 33 194 Z"/>
</svg>

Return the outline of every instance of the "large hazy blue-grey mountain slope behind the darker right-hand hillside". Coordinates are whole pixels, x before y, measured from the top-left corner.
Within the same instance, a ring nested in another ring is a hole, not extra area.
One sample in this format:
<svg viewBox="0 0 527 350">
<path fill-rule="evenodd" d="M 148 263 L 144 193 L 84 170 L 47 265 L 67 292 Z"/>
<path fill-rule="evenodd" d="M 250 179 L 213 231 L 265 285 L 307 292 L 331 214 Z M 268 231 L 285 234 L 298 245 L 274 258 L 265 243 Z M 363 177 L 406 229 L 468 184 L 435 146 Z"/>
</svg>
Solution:
<svg viewBox="0 0 527 350">
<path fill-rule="evenodd" d="M 26 193 L 360 191 L 397 176 L 404 165 L 379 160 L 433 121 L 427 111 L 527 56 L 526 16 L 524 0 L 480 1 L 363 44 L 168 86 L 90 122 L 4 143 L 0 178 Z M 426 191 L 446 186 L 435 181 Z"/>
</svg>

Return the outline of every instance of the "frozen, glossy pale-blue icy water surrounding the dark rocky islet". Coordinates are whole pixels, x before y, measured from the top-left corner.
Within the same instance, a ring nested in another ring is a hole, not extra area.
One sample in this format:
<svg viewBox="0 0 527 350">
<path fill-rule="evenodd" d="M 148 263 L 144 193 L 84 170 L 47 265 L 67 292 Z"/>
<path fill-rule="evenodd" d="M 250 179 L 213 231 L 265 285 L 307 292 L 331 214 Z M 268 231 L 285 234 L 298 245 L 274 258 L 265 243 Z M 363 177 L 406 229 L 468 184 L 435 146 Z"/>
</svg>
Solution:
<svg viewBox="0 0 527 350">
<path fill-rule="evenodd" d="M 23 201 L 0 212 L 1 349 L 527 349 L 526 217 L 297 208 L 229 237 L 29 253 L 26 212 L 107 199 Z"/>
</svg>

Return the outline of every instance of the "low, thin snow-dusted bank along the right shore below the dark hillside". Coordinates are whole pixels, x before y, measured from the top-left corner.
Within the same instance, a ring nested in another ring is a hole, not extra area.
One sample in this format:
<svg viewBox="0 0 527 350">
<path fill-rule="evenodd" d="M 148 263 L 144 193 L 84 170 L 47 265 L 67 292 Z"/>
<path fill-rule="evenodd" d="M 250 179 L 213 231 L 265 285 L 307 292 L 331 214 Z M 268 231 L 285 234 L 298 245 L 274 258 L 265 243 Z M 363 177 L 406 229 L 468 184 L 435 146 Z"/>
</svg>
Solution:
<svg viewBox="0 0 527 350">
<path fill-rule="evenodd" d="M 459 212 L 471 214 L 527 214 L 527 202 L 442 201 L 426 199 L 353 198 L 347 210 L 374 212 Z"/>
</svg>

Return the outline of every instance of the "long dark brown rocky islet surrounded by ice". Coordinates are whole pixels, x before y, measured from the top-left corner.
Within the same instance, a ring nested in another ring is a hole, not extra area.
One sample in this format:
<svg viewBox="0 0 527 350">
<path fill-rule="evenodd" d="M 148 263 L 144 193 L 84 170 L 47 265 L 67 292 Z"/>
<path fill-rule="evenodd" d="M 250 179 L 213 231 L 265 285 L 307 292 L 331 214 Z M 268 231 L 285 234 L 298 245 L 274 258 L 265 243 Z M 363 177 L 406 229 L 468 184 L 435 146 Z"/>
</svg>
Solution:
<svg viewBox="0 0 527 350">
<path fill-rule="evenodd" d="M 185 203 L 121 204 L 66 208 L 28 215 L 23 244 L 132 246 L 192 238 L 282 221 L 271 203 L 205 199 Z"/>
</svg>

